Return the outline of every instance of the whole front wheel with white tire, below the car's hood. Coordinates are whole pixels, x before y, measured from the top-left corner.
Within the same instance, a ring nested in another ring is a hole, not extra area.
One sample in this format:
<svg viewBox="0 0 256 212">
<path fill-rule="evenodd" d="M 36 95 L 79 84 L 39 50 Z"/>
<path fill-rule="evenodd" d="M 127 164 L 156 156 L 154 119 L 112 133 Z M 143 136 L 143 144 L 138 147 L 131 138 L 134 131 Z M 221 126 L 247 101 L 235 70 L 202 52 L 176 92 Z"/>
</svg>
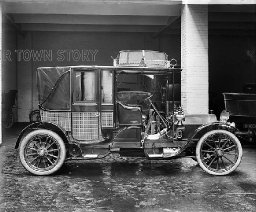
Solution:
<svg viewBox="0 0 256 212">
<path fill-rule="evenodd" d="M 238 138 L 226 130 L 212 130 L 201 137 L 196 146 L 200 167 L 212 175 L 227 175 L 241 162 L 243 150 Z"/>
</svg>

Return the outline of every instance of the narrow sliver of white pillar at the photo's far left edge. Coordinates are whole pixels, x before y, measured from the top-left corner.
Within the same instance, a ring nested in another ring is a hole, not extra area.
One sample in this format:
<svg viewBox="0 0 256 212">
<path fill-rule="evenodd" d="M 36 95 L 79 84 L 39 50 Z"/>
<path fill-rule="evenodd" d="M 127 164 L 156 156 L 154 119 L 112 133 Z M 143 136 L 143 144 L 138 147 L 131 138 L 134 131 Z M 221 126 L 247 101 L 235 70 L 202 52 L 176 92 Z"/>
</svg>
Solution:
<svg viewBox="0 0 256 212">
<path fill-rule="evenodd" d="M 3 50 L 3 41 L 2 41 L 2 33 L 3 33 L 3 14 L 2 14 L 2 4 L 0 3 L 0 57 L 2 55 Z M 0 144 L 3 140 L 3 134 L 2 134 L 2 58 L 0 58 Z"/>
</svg>

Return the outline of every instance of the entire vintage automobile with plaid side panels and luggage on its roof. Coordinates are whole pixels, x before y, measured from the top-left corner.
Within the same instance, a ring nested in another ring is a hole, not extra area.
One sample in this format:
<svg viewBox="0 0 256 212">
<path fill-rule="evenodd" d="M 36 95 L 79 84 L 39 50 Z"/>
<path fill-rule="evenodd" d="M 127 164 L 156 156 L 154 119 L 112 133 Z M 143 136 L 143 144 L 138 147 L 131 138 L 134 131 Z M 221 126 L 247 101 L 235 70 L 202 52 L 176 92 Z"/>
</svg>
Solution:
<svg viewBox="0 0 256 212">
<path fill-rule="evenodd" d="M 192 157 L 209 174 L 233 172 L 242 157 L 236 128 L 227 117 L 185 115 L 180 75 L 175 60 L 145 50 L 121 51 L 113 66 L 38 68 L 41 118 L 18 137 L 21 163 L 35 175 L 50 175 L 67 160 L 115 153 Z"/>
</svg>

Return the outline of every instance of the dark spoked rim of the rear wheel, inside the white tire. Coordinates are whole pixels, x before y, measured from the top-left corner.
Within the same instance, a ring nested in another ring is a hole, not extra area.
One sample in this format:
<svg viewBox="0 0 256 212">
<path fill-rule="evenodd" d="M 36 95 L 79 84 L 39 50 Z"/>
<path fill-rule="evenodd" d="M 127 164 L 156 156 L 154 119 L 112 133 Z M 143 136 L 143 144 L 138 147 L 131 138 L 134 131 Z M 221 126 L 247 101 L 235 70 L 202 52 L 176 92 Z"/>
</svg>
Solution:
<svg viewBox="0 0 256 212">
<path fill-rule="evenodd" d="M 59 142 L 49 135 L 35 135 L 24 148 L 27 165 L 36 171 L 47 171 L 55 167 L 60 160 Z"/>
</svg>

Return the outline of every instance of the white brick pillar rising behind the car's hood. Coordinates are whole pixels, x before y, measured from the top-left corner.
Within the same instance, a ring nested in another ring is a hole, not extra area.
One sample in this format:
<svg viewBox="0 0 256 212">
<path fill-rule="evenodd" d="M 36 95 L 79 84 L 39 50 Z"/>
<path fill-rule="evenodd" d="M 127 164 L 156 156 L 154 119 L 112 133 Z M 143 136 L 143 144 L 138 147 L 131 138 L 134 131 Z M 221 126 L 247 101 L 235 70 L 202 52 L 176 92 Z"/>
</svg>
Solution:
<svg viewBox="0 0 256 212">
<path fill-rule="evenodd" d="M 181 105 L 187 114 L 209 108 L 208 6 L 182 5 Z"/>
</svg>

